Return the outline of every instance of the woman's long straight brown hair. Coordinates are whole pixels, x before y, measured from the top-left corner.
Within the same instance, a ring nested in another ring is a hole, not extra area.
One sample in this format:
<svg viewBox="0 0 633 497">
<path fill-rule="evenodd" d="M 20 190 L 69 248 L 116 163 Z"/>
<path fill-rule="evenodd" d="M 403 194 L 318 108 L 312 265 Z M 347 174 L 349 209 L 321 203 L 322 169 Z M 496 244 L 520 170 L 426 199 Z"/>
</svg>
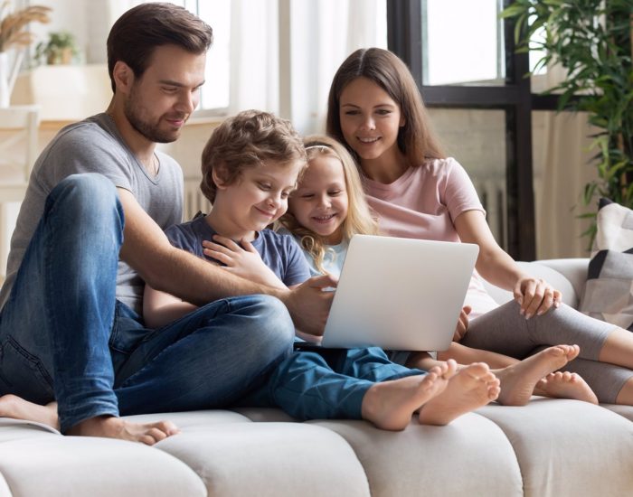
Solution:
<svg viewBox="0 0 633 497">
<path fill-rule="evenodd" d="M 380 48 L 359 49 L 336 70 L 327 99 L 327 134 L 334 136 L 357 158 L 345 143 L 340 120 L 340 98 L 345 87 L 358 78 L 366 78 L 382 88 L 400 106 L 404 126 L 398 131 L 398 147 L 410 165 L 417 167 L 426 159 L 443 159 L 444 152 L 430 127 L 430 120 L 411 71 L 397 55 Z"/>
</svg>

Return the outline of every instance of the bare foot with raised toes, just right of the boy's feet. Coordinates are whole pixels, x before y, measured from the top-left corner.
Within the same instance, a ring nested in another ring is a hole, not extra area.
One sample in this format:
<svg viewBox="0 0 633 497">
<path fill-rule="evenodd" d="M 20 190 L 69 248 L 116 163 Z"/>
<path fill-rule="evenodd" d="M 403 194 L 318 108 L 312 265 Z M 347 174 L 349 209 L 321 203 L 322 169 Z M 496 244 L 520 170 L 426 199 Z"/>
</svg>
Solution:
<svg viewBox="0 0 633 497">
<path fill-rule="evenodd" d="M 578 345 L 555 345 L 503 370 L 496 370 L 496 376 L 501 381 L 497 401 L 504 406 L 524 406 L 543 377 L 575 359 L 579 352 Z"/>
</svg>

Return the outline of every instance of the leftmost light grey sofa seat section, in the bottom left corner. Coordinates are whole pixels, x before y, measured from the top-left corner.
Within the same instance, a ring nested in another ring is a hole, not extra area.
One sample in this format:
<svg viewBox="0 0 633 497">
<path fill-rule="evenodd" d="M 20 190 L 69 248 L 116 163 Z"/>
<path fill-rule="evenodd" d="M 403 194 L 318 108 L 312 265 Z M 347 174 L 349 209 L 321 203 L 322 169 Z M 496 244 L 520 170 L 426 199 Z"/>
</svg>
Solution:
<svg viewBox="0 0 633 497">
<path fill-rule="evenodd" d="M 9 495 L 206 495 L 191 468 L 153 447 L 61 436 L 19 423 L 11 431 L 12 439 L 0 442 L 0 474 Z"/>
</svg>

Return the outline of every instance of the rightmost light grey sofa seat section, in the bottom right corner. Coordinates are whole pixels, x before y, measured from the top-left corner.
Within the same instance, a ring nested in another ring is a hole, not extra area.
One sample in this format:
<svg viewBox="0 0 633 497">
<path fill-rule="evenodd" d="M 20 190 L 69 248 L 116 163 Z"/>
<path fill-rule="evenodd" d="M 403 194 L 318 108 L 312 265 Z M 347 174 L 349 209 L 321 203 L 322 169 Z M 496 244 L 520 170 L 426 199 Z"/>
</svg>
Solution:
<svg viewBox="0 0 633 497">
<path fill-rule="evenodd" d="M 493 404 L 477 413 L 510 440 L 525 495 L 622 495 L 622 489 L 633 489 L 633 423 L 609 409 L 533 398 L 521 408 Z"/>
</svg>

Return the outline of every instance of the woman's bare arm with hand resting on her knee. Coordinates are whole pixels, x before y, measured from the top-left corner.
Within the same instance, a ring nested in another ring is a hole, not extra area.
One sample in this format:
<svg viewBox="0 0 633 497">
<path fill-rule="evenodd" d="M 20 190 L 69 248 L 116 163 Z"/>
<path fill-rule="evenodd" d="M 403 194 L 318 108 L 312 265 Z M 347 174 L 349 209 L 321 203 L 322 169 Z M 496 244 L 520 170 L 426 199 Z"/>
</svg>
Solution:
<svg viewBox="0 0 633 497">
<path fill-rule="evenodd" d="M 505 251 L 498 246 L 495 237 L 481 211 L 465 211 L 454 220 L 459 239 L 479 246 L 477 271 L 490 283 L 515 295 L 521 305 L 521 314 L 526 318 L 544 314 L 561 302 L 561 292 L 543 279 L 524 273 Z"/>
</svg>

